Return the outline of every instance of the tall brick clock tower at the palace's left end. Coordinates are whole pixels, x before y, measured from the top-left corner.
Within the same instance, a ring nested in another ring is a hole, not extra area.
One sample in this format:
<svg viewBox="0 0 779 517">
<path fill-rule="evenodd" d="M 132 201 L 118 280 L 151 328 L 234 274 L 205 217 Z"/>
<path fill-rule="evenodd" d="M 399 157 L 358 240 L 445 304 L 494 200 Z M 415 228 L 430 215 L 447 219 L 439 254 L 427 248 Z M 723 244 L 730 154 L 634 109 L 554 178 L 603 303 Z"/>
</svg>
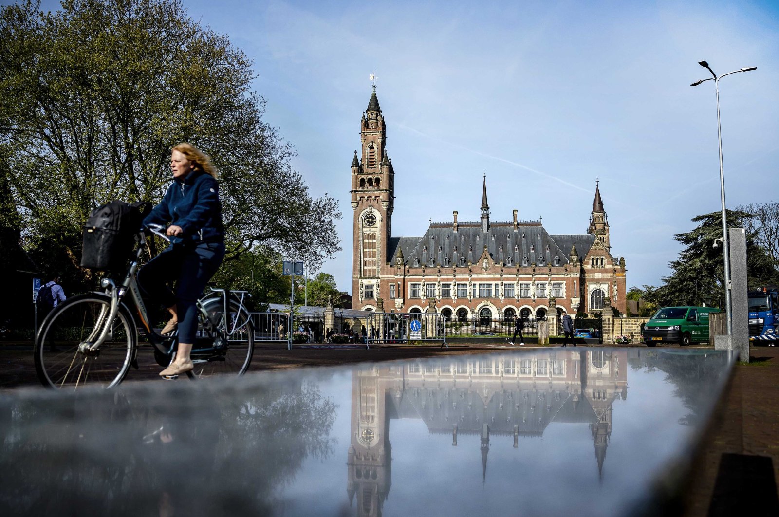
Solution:
<svg viewBox="0 0 779 517">
<path fill-rule="evenodd" d="M 351 208 L 354 211 L 352 294 L 355 301 L 379 297 L 379 274 L 386 255 L 395 205 L 395 172 L 386 153 L 386 126 L 373 86 L 360 121 L 361 158 L 351 162 Z"/>
</svg>

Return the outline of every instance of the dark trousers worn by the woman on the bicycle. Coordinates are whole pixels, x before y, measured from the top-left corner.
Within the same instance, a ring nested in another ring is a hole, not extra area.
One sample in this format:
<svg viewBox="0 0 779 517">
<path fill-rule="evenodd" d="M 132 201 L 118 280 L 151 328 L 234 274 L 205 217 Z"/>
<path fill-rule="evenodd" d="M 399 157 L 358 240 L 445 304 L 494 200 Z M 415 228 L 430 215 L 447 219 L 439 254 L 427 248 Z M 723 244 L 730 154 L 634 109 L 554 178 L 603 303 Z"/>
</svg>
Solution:
<svg viewBox="0 0 779 517">
<path fill-rule="evenodd" d="M 224 244 L 201 242 L 196 246 L 173 245 L 138 272 L 144 299 L 178 309 L 178 343 L 195 343 L 196 301 L 224 259 Z M 176 280 L 175 294 L 167 283 Z"/>
</svg>

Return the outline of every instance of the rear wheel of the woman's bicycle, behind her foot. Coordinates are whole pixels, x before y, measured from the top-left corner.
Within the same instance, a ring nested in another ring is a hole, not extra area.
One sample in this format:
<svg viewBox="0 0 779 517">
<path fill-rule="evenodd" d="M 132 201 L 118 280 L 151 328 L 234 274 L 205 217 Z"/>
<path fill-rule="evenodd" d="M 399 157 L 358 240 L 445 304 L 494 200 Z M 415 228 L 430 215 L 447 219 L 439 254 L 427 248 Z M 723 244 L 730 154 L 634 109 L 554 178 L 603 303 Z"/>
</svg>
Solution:
<svg viewBox="0 0 779 517">
<path fill-rule="evenodd" d="M 249 313 L 231 300 L 229 314 L 225 315 L 220 297 L 203 301 L 201 307 L 196 346 L 192 349 L 192 376 L 243 375 L 254 354 L 254 326 Z M 227 335 L 229 330 L 233 330 L 231 335 Z M 227 336 L 226 342 L 220 343 L 220 336 Z"/>
</svg>

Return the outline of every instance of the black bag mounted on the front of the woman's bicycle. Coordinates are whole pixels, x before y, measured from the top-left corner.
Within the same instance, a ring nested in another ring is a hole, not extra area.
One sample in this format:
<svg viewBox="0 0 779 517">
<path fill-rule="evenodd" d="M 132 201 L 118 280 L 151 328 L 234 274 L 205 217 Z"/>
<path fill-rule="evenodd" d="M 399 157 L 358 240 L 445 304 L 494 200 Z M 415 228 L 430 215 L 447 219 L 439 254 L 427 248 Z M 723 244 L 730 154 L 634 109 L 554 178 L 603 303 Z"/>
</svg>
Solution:
<svg viewBox="0 0 779 517">
<path fill-rule="evenodd" d="M 81 266 L 112 271 L 123 269 L 151 204 L 109 201 L 92 210 L 84 224 Z"/>
</svg>

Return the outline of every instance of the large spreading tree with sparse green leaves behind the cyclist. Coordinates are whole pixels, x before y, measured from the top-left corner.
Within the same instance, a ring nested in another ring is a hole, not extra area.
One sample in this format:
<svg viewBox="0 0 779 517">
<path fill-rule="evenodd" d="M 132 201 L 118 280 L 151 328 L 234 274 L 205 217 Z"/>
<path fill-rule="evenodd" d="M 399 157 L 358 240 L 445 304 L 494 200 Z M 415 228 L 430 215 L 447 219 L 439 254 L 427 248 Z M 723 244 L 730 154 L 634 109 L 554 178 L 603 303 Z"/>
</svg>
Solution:
<svg viewBox="0 0 779 517">
<path fill-rule="evenodd" d="M 220 171 L 228 259 L 262 244 L 316 269 L 340 250 L 337 202 L 291 168 L 251 60 L 179 0 L 5 6 L 0 70 L 0 170 L 41 269 L 88 285 L 83 221 L 110 199 L 159 201 L 178 142 Z"/>
</svg>

